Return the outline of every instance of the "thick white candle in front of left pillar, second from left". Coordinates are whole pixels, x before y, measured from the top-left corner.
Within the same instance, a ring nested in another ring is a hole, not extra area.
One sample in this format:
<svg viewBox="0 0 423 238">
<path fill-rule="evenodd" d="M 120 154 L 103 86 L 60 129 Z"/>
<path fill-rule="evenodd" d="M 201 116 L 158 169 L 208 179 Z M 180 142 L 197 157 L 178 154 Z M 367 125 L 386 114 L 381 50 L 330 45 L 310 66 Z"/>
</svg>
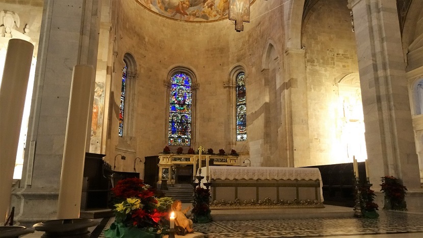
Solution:
<svg viewBox="0 0 423 238">
<path fill-rule="evenodd" d="M 80 217 L 84 159 L 88 128 L 88 113 L 92 112 L 94 68 L 89 65 L 73 67 L 66 125 L 62 176 L 58 201 L 58 219 Z"/>
</svg>

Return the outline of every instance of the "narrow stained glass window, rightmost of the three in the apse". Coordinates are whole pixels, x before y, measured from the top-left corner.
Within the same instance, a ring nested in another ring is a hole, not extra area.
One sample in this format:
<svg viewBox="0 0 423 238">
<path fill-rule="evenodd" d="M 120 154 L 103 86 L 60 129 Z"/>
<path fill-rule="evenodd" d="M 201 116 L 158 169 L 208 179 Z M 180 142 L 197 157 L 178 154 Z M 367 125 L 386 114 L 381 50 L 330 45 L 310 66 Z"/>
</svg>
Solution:
<svg viewBox="0 0 423 238">
<path fill-rule="evenodd" d="M 236 140 L 247 140 L 247 105 L 245 73 L 236 76 Z"/>
</svg>

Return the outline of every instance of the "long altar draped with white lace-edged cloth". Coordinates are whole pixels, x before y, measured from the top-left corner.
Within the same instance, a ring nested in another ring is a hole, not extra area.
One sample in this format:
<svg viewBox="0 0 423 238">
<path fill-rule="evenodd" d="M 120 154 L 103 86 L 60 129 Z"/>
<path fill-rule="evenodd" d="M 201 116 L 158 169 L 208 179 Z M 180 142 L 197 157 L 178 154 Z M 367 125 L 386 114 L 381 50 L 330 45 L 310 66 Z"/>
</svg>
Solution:
<svg viewBox="0 0 423 238">
<path fill-rule="evenodd" d="M 324 207 L 318 168 L 209 166 L 208 176 L 210 209 Z"/>
</svg>

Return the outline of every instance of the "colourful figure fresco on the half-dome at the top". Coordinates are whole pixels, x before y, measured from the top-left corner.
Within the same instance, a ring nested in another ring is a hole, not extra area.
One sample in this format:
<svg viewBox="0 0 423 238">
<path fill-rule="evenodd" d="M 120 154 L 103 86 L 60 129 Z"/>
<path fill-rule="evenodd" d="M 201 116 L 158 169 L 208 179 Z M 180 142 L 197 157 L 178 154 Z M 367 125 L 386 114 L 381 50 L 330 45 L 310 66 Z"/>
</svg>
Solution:
<svg viewBox="0 0 423 238">
<path fill-rule="evenodd" d="M 227 19 L 229 0 L 135 0 L 148 11 L 172 20 L 214 22 Z M 248 1 L 248 0 L 246 0 Z M 250 5 L 255 0 L 250 0 Z"/>
</svg>

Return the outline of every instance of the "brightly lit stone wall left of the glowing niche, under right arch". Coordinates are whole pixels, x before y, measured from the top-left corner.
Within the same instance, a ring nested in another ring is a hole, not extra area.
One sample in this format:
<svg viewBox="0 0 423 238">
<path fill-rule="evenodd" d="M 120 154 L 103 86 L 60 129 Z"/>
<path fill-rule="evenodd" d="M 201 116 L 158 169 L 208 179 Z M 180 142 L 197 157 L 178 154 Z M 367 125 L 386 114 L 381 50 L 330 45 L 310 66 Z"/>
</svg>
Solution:
<svg viewBox="0 0 423 238">
<path fill-rule="evenodd" d="M 302 45 L 305 46 L 311 161 L 300 161 L 296 166 L 340 163 L 338 150 L 346 148 L 339 148 L 338 115 L 342 108 L 335 84 L 347 74 L 358 72 L 347 1 L 317 2 L 304 20 Z"/>
</svg>

